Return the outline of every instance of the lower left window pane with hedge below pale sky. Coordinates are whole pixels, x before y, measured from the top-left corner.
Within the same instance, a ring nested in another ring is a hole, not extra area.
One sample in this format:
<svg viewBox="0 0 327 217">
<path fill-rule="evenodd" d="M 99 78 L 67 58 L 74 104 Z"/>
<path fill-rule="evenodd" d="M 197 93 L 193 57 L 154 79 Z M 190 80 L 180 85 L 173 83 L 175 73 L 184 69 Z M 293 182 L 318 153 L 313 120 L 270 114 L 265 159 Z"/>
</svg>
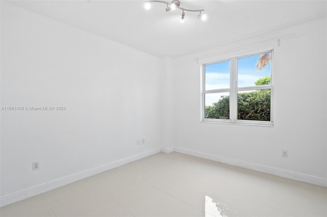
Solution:
<svg viewBox="0 0 327 217">
<path fill-rule="evenodd" d="M 205 118 L 229 119 L 229 92 L 204 94 Z"/>
</svg>

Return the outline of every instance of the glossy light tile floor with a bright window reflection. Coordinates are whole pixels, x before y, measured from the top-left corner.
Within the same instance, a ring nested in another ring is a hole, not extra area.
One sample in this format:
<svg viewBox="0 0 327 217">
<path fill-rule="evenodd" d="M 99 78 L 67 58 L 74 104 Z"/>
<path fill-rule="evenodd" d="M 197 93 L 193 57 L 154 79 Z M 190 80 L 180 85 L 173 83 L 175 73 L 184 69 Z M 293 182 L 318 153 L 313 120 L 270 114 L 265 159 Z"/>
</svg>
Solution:
<svg viewBox="0 0 327 217">
<path fill-rule="evenodd" d="M 327 216 L 327 188 L 158 153 L 2 207 L 1 216 Z"/>
</svg>

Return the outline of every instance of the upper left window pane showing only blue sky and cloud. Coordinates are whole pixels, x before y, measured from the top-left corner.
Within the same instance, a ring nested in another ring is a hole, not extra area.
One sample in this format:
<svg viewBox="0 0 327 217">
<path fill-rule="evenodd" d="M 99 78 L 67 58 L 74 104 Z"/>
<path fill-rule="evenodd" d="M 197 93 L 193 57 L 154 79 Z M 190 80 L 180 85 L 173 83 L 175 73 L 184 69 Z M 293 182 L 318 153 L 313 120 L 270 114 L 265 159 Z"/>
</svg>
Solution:
<svg viewBox="0 0 327 217">
<path fill-rule="evenodd" d="M 205 90 L 229 88 L 229 61 L 205 65 Z"/>
</svg>

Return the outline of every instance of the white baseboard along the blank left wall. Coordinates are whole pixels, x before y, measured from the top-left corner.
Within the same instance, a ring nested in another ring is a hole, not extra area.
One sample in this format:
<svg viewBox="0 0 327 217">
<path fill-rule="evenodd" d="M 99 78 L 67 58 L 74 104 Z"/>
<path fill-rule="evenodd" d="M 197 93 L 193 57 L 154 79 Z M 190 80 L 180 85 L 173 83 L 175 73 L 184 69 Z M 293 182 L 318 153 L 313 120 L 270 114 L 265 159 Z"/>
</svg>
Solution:
<svg viewBox="0 0 327 217">
<path fill-rule="evenodd" d="M 146 152 L 142 152 L 139 154 L 135 154 L 135 155 L 123 158 L 123 159 L 119 159 L 119 160 L 110 162 L 105 165 L 101 165 L 96 168 L 85 170 L 85 171 L 75 173 L 70 176 L 62 177 L 60 179 L 57 179 L 57 180 L 54 180 L 54 181 L 51 181 L 48 183 L 44 183 L 44 184 L 41 184 L 41 185 L 38 185 L 35 187 L 31 187 L 31 188 L 25 189 L 24 191 L 15 193 L 15 194 L 11 194 L 11 195 L 2 197 L 2 198 L 0 198 L 0 207 L 6 206 L 8 204 L 15 203 L 15 202 L 18 202 L 21 200 L 25 200 L 27 198 L 42 194 L 44 192 L 51 191 L 55 188 L 62 187 L 66 184 L 70 184 L 75 181 L 79 181 L 81 179 L 85 179 L 87 177 L 97 175 L 97 174 L 105 172 L 107 170 L 123 166 L 125 164 L 128 164 L 129 162 L 150 156 L 152 154 L 159 153 L 160 151 L 161 151 L 161 148 L 152 149 L 152 150 L 149 150 Z"/>
</svg>

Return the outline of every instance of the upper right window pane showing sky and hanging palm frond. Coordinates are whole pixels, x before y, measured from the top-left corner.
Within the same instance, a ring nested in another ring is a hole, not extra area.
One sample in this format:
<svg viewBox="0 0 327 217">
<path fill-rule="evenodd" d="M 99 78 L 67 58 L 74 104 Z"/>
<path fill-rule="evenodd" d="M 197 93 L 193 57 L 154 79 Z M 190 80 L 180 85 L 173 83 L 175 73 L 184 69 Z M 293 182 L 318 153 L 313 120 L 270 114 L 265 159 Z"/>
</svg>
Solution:
<svg viewBox="0 0 327 217">
<path fill-rule="evenodd" d="M 269 85 L 271 52 L 239 58 L 237 60 L 238 87 Z"/>
</svg>

